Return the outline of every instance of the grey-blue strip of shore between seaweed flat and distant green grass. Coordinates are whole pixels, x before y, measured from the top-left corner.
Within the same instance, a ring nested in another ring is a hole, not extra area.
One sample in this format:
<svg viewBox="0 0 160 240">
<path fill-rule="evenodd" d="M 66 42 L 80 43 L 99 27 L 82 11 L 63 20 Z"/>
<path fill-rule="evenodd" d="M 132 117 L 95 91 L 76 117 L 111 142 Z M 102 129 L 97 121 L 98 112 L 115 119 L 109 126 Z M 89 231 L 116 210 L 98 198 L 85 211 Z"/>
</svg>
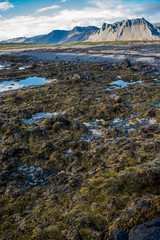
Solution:
<svg viewBox="0 0 160 240">
<path fill-rule="evenodd" d="M 109 46 L 40 47 L 0 50 L 1 56 L 25 56 L 35 61 L 70 61 L 81 63 L 145 63 L 160 68 L 159 44 Z"/>
</svg>

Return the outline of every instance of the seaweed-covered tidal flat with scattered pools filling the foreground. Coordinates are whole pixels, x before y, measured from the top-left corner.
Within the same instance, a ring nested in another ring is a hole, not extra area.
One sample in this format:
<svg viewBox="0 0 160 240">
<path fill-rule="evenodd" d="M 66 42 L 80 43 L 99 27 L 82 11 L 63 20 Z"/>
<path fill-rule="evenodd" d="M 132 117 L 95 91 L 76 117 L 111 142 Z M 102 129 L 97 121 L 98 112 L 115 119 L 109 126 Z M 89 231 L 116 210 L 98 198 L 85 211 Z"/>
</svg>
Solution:
<svg viewBox="0 0 160 240">
<path fill-rule="evenodd" d="M 1 240 L 107 240 L 159 217 L 157 49 L 150 62 L 1 52 Z"/>
</svg>

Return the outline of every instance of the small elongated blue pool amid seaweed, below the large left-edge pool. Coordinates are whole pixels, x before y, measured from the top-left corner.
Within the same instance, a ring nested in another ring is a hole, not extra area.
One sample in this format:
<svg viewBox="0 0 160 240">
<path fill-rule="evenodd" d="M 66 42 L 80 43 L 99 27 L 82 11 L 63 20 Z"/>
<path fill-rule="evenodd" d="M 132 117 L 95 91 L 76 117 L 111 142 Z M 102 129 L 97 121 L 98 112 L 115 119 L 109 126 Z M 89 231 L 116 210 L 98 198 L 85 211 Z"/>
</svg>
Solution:
<svg viewBox="0 0 160 240">
<path fill-rule="evenodd" d="M 51 118 L 51 117 L 55 117 L 59 114 L 61 114 L 62 112 L 53 112 L 53 113 L 36 113 L 32 116 L 32 118 L 24 120 L 25 123 L 31 125 L 32 123 L 41 123 L 44 119 L 46 118 Z"/>
</svg>

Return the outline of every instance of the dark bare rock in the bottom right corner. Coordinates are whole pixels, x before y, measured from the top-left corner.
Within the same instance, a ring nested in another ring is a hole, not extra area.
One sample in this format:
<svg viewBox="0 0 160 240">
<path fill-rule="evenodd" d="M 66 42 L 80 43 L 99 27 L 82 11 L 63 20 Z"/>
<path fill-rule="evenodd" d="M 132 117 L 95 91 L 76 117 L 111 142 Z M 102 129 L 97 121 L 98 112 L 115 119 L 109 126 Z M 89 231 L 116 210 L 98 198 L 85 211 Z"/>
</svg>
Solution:
<svg viewBox="0 0 160 240">
<path fill-rule="evenodd" d="M 131 229 L 129 240 L 158 240 L 160 239 L 160 217 L 145 222 Z"/>
</svg>

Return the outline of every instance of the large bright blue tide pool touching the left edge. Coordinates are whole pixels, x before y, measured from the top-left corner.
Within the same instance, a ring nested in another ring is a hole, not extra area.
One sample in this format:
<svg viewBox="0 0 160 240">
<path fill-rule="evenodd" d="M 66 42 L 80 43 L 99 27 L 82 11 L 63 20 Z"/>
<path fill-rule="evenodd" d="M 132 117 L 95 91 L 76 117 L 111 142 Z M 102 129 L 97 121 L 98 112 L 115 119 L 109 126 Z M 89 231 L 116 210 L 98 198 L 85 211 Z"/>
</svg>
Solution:
<svg viewBox="0 0 160 240">
<path fill-rule="evenodd" d="M 50 83 L 53 80 L 47 80 L 45 78 L 40 77 L 28 77 L 25 80 L 20 80 L 18 82 L 15 81 L 4 81 L 0 83 L 0 92 L 5 92 L 9 90 L 16 90 L 23 87 L 29 86 L 37 86 L 37 85 L 44 85 L 46 83 Z"/>
</svg>

